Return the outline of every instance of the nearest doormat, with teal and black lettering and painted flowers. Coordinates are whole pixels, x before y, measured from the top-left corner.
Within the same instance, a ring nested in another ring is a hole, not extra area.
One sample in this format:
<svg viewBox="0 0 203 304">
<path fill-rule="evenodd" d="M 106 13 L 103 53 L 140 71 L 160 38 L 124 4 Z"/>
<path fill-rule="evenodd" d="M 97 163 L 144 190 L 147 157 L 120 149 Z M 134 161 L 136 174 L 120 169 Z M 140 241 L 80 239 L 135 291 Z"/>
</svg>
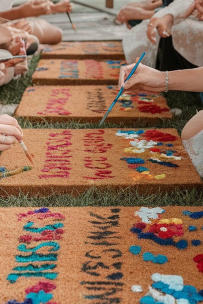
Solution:
<svg viewBox="0 0 203 304">
<path fill-rule="evenodd" d="M 1 304 L 201 304 L 202 207 L 1 208 Z"/>
</svg>

